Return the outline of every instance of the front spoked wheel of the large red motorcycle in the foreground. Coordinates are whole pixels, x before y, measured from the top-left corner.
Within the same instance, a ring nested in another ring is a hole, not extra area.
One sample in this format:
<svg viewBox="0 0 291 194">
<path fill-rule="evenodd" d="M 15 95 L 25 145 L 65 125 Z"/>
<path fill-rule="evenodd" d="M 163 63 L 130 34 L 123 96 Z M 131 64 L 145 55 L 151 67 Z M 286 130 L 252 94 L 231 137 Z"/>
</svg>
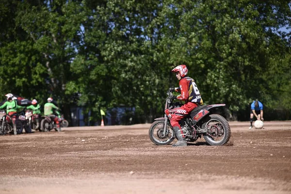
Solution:
<svg viewBox="0 0 291 194">
<path fill-rule="evenodd" d="M 165 121 L 155 121 L 148 130 L 149 139 L 156 145 L 168 145 L 175 139 L 175 134 L 172 127 L 167 124 L 166 134 L 163 134 Z"/>
</svg>

